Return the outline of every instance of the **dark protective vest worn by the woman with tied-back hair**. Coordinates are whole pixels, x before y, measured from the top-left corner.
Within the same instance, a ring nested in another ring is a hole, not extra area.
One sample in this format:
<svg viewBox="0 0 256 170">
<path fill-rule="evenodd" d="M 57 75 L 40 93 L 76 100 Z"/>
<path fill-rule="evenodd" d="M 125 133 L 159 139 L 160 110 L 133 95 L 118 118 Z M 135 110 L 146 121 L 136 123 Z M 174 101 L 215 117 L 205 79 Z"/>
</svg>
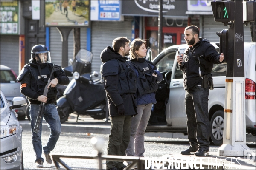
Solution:
<svg viewBox="0 0 256 170">
<path fill-rule="evenodd" d="M 153 71 L 148 61 L 137 62 L 129 61 L 139 72 L 137 77 L 137 88 L 139 96 L 157 91 L 157 77 L 152 76 Z"/>
</svg>

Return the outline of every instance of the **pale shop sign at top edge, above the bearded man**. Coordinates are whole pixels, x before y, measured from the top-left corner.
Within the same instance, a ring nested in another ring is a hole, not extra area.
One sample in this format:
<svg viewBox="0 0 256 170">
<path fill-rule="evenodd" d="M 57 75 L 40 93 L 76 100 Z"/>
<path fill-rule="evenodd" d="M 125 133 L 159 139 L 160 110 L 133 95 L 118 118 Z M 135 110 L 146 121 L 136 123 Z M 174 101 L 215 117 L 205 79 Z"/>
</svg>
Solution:
<svg viewBox="0 0 256 170">
<path fill-rule="evenodd" d="M 188 11 L 212 11 L 213 0 L 188 0 Z"/>
</svg>

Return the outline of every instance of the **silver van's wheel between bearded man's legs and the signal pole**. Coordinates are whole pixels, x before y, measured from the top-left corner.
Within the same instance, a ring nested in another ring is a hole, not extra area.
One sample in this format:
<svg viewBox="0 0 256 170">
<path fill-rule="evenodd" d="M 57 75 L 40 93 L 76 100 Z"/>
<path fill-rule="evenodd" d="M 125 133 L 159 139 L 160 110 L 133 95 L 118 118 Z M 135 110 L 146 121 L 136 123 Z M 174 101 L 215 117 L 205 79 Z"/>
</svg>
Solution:
<svg viewBox="0 0 256 170">
<path fill-rule="evenodd" d="M 210 127 L 212 142 L 217 146 L 221 146 L 223 143 L 224 111 L 219 110 L 212 115 Z"/>
</svg>

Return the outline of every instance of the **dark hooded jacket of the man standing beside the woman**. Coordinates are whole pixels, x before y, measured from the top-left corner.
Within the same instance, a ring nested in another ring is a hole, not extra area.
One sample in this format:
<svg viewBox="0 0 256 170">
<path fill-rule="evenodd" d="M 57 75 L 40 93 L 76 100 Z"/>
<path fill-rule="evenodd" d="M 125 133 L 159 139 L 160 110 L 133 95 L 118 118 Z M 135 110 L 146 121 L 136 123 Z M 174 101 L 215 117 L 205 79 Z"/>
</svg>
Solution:
<svg viewBox="0 0 256 170">
<path fill-rule="evenodd" d="M 122 57 L 111 47 L 105 48 L 100 58 L 104 63 L 102 78 L 104 79 L 110 116 L 119 116 L 117 106 L 121 104 L 125 107 L 125 115 L 135 115 L 137 113 L 134 103 L 134 93 L 137 91 L 136 75 L 126 62 L 127 58 Z M 125 69 L 125 76 L 121 74 L 123 68 L 127 68 Z M 127 73 L 129 73 L 129 77 L 127 77 Z"/>
</svg>

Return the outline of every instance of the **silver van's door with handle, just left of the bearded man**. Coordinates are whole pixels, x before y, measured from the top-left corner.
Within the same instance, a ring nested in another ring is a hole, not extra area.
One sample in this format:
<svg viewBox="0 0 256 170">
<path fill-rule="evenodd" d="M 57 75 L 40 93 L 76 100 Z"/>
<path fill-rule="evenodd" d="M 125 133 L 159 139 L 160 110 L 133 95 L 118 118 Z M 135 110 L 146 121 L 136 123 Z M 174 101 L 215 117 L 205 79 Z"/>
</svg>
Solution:
<svg viewBox="0 0 256 170">
<path fill-rule="evenodd" d="M 179 48 L 180 54 L 184 54 L 185 48 Z M 170 81 L 169 100 L 166 105 L 167 125 L 172 127 L 186 128 L 186 111 L 185 111 L 185 90 L 183 87 L 183 72 L 180 70 L 176 56 L 177 48 L 171 50 L 171 56 L 174 60 L 172 66 L 172 76 Z"/>
</svg>

